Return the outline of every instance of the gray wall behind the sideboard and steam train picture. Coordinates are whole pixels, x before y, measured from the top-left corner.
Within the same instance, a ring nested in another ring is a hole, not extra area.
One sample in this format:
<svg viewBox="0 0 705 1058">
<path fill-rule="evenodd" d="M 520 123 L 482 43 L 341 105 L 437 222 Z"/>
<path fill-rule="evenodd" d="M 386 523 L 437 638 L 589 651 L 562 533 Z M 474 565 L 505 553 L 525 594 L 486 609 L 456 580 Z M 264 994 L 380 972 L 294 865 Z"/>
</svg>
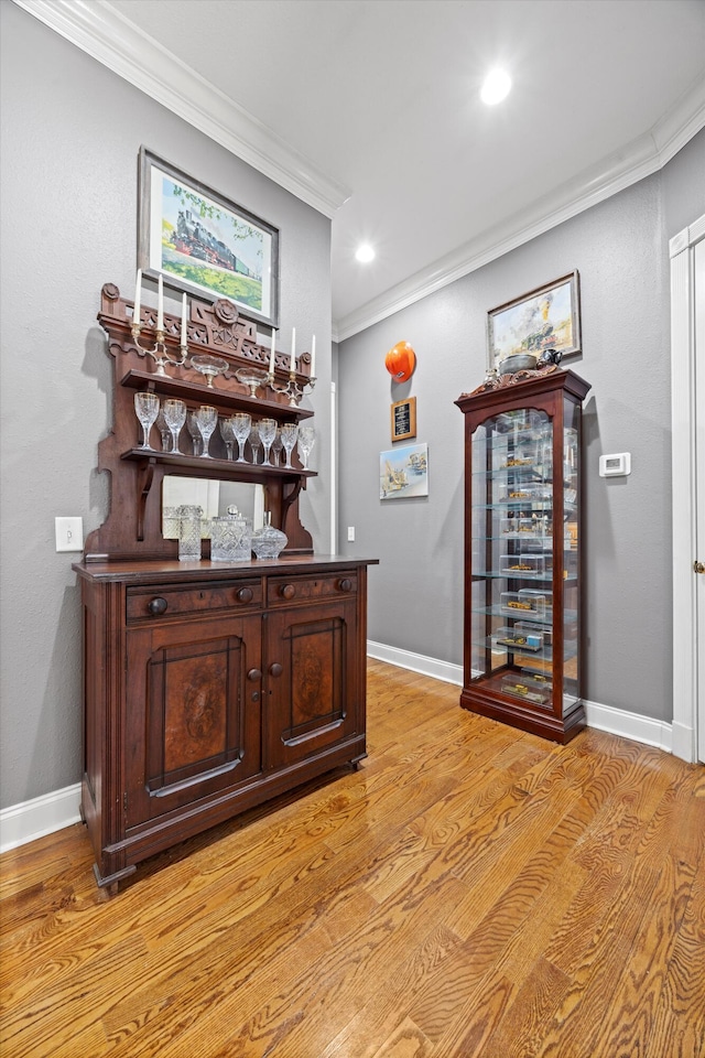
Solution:
<svg viewBox="0 0 705 1058">
<path fill-rule="evenodd" d="M 54 517 L 108 510 L 97 445 L 111 375 L 100 288 L 132 298 L 142 143 L 280 228 L 282 348 L 316 334 L 315 423 L 329 434 L 330 223 L 64 41 L 0 4 L 2 139 L 0 807 L 80 778 L 80 609 Z M 306 398 L 308 400 L 310 398 Z M 302 521 L 329 550 L 329 449 Z"/>
</svg>

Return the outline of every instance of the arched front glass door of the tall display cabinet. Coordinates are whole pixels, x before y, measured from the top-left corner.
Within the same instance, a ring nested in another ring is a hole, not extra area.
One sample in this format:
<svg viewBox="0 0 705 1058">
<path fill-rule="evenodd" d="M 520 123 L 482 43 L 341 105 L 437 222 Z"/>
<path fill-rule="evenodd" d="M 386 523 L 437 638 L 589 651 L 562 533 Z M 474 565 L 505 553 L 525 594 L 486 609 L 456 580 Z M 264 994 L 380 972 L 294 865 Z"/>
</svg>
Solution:
<svg viewBox="0 0 705 1058">
<path fill-rule="evenodd" d="M 553 710 L 554 429 L 544 411 L 494 415 L 473 435 L 471 677 Z"/>
</svg>

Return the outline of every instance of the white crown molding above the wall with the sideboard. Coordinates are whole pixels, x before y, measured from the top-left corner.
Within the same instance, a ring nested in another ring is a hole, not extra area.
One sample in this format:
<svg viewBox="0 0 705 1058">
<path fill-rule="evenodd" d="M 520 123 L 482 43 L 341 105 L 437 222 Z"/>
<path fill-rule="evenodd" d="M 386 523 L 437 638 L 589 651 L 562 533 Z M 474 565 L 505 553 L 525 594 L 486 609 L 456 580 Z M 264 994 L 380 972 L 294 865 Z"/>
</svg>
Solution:
<svg viewBox="0 0 705 1058">
<path fill-rule="evenodd" d="M 106 0 L 14 3 L 329 219 L 349 198 L 347 187 L 126 21 Z"/>
</svg>

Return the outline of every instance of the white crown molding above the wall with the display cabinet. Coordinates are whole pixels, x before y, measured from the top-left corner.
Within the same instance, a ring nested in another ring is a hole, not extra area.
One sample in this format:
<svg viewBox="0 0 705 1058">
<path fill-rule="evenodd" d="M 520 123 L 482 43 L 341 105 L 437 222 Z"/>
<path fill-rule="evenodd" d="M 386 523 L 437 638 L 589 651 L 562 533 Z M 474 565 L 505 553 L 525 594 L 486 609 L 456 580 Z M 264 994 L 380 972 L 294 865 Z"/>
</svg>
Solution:
<svg viewBox="0 0 705 1058">
<path fill-rule="evenodd" d="M 564 220 L 610 198 L 662 169 L 701 129 L 705 128 L 705 80 L 681 97 L 650 132 L 627 148 L 585 170 L 529 208 L 482 233 L 470 242 L 434 261 L 404 282 L 355 312 L 333 321 L 333 341 L 366 331 L 388 316 L 427 298 L 470 272 L 489 264 L 510 250 L 550 231 Z"/>
</svg>

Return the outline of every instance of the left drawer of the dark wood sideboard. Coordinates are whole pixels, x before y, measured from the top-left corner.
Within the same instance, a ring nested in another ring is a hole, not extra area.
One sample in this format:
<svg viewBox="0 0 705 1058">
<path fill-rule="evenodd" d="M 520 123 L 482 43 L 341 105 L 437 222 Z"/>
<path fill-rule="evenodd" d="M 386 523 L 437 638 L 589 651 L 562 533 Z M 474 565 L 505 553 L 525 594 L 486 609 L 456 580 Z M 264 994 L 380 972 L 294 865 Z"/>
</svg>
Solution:
<svg viewBox="0 0 705 1058">
<path fill-rule="evenodd" d="M 262 582 L 224 581 L 219 584 L 194 584 L 189 587 L 166 585 L 128 587 L 127 620 L 155 620 L 184 614 L 241 612 L 262 605 Z"/>
</svg>

